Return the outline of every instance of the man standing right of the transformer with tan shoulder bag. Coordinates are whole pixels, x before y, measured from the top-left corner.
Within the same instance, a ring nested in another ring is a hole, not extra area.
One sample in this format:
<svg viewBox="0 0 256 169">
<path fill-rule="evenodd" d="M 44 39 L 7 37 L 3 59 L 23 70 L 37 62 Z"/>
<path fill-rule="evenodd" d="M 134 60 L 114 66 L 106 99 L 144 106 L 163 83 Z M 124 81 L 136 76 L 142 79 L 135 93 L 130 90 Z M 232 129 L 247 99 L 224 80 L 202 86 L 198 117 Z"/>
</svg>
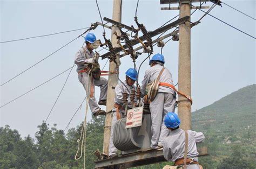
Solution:
<svg viewBox="0 0 256 169">
<path fill-rule="evenodd" d="M 176 93 L 172 88 L 158 86 L 159 82 L 173 85 L 172 74 L 164 67 L 164 64 L 164 55 L 159 53 L 153 55 L 150 60 L 150 68 L 146 70 L 142 81 L 142 97 L 147 95 L 150 100 L 151 149 L 163 147 L 163 140 L 169 133 L 164 126 L 163 117 L 169 111 L 174 112 L 176 103 Z M 154 93 L 154 97 L 151 96 L 149 90 L 151 90 L 151 94 Z"/>
</svg>

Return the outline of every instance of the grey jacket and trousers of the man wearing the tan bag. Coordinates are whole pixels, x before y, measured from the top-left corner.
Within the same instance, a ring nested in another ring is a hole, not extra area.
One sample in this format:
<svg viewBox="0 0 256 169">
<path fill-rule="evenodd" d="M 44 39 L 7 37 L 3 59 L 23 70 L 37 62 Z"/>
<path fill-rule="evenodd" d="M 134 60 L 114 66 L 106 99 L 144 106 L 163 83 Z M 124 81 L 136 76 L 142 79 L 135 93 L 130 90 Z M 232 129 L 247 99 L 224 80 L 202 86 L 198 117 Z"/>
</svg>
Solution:
<svg viewBox="0 0 256 169">
<path fill-rule="evenodd" d="M 146 70 L 142 81 L 142 96 L 145 95 L 146 85 L 157 79 L 163 66 L 157 64 Z M 167 68 L 160 76 L 160 82 L 173 85 L 172 74 Z M 163 145 L 164 138 L 169 134 L 169 130 L 164 125 L 163 119 L 167 112 L 174 112 L 176 103 L 176 93 L 169 87 L 159 86 L 158 93 L 150 103 L 151 112 L 151 148 L 156 149 L 158 145 Z"/>
</svg>

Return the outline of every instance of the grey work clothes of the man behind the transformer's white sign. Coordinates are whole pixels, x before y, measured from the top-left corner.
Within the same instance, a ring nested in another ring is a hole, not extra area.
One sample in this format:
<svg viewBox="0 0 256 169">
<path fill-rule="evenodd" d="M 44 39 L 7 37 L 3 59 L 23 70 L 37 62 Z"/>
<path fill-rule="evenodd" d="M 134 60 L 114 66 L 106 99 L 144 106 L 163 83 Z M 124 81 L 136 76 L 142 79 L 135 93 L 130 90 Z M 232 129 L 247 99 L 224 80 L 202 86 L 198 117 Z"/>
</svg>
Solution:
<svg viewBox="0 0 256 169">
<path fill-rule="evenodd" d="M 124 83 L 124 84 L 123 84 Z M 130 93 L 131 93 L 131 90 L 136 90 L 136 87 L 134 85 L 132 86 L 129 86 L 127 85 L 126 81 L 123 81 L 118 83 L 118 85 L 114 88 L 115 92 L 116 92 L 116 95 L 114 97 L 114 102 L 119 104 L 119 105 L 122 105 L 124 106 L 124 103 L 123 103 L 123 93 L 124 91 L 130 96 Z M 127 88 L 129 89 L 127 90 Z M 134 102 L 136 102 L 137 99 L 134 98 Z M 131 105 L 131 100 L 130 100 L 130 97 L 128 97 L 128 108 L 132 108 L 132 105 Z M 117 154 L 117 148 L 114 146 L 113 144 L 113 131 L 114 131 L 114 124 L 117 122 L 117 112 L 116 112 L 116 108 L 113 108 L 113 117 L 112 117 L 112 124 L 111 124 L 111 131 L 110 131 L 110 143 L 109 143 L 109 156 L 113 155 L 113 154 Z M 124 114 L 124 109 L 119 109 L 119 112 L 121 114 Z"/>
</svg>

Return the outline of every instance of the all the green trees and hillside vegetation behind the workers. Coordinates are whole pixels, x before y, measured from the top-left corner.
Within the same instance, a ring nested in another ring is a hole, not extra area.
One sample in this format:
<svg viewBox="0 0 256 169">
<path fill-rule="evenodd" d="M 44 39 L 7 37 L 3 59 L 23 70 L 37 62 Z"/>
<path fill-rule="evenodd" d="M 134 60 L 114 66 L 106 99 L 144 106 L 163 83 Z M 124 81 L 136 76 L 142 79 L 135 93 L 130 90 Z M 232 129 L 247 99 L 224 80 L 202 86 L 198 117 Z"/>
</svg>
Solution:
<svg viewBox="0 0 256 169">
<path fill-rule="evenodd" d="M 206 168 L 254 168 L 256 85 L 247 86 L 192 113 L 192 126 L 206 136 L 210 156 L 200 157 Z M 21 138 L 10 126 L 0 128 L 0 168 L 82 168 L 83 159 L 75 160 L 77 139 L 82 123 L 65 134 L 57 125 L 42 123 L 35 140 Z M 86 130 L 86 168 L 93 168 L 102 151 L 104 117 L 93 117 Z M 163 168 L 168 162 L 137 168 Z"/>
</svg>

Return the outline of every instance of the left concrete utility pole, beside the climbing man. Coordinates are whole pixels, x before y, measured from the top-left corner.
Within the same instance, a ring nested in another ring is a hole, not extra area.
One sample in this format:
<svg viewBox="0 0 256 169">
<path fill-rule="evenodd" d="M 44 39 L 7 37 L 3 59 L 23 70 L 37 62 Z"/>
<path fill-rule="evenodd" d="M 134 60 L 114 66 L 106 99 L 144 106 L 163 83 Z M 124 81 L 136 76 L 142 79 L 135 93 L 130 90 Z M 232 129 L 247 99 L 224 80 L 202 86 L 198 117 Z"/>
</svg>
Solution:
<svg viewBox="0 0 256 169">
<path fill-rule="evenodd" d="M 122 18 L 122 1 L 121 0 L 113 0 L 113 20 L 117 22 L 121 22 Z M 117 38 L 113 34 L 113 32 L 116 31 L 118 33 L 118 36 L 120 35 L 120 31 L 117 28 L 117 26 L 112 27 L 112 34 L 111 34 L 111 41 L 113 44 L 113 47 L 119 47 L 117 44 Z M 109 65 L 109 71 L 110 72 L 119 72 L 119 56 L 117 56 L 116 59 L 118 65 L 116 65 L 114 62 L 110 62 Z M 106 105 L 106 112 L 109 112 L 113 109 L 114 105 L 114 87 L 118 84 L 118 74 L 110 74 L 109 75 L 109 83 L 107 85 L 107 105 Z M 106 114 L 105 118 L 105 126 L 104 126 L 104 141 L 103 141 L 103 154 L 108 155 L 109 154 L 109 142 L 110 142 L 110 131 L 111 131 L 111 121 L 112 117 L 110 113 Z"/>
</svg>

